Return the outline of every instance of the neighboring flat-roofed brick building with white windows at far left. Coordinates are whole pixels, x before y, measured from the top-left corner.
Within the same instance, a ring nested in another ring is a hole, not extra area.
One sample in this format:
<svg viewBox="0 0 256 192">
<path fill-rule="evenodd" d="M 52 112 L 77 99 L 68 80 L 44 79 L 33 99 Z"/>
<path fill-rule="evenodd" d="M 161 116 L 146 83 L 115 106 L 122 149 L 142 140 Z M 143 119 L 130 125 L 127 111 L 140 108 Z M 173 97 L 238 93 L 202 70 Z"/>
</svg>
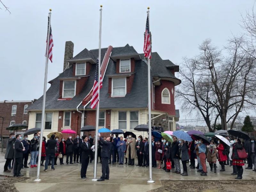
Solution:
<svg viewBox="0 0 256 192">
<path fill-rule="evenodd" d="M 11 124 L 28 124 L 29 113 L 27 111 L 33 101 L 0 101 L 0 135 L 9 138 L 12 131 L 6 130 Z M 3 124 L 3 127 L 2 127 Z M 21 130 L 25 131 L 25 130 Z"/>
</svg>

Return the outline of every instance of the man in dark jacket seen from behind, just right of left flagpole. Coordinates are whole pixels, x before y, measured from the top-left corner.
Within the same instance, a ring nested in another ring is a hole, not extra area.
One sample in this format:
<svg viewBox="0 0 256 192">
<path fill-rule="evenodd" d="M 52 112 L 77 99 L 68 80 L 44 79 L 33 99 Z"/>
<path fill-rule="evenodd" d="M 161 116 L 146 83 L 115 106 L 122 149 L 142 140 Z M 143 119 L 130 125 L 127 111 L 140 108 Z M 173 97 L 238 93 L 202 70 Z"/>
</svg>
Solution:
<svg viewBox="0 0 256 192">
<path fill-rule="evenodd" d="M 57 144 L 57 140 L 54 139 L 55 135 L 52 134 L 51 135 L 51 139 L 47 140 L 47 144 L 46 144 L 46 160 L 45 160 L 45 164 L 44 164 L 44 172 L 47 172 L 48 169 L 48 163 L 49 160 L 52 160 L 52 171 L 54 171 L 54 158 L 55 158 L 55 147 Z"/>
</svg>

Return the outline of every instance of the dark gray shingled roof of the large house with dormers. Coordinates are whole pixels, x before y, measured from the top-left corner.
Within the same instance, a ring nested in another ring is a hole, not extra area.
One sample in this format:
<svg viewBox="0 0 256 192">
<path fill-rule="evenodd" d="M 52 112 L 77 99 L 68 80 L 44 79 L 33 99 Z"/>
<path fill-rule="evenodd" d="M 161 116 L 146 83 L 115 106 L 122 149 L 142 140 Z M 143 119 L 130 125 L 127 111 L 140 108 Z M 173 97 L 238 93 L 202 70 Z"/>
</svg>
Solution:
<svg viewBox="0 0 256 192">
<path fill-rule="evenodd" d="M 101 49 L 101 62 L 104 58 L 105 52 L 108 48 Z M 92 58 L 93 60 L 97 60 L 98 58 L 98 49 L 93 49 L 88 51 L 84 49 L 82 52 L 78 53 L 71 60 L 75 59 L 87 59 Z M 112 49 L 111 56 L 116 55 L 129 55 L 129 54 L 138 54 L 132 46 L 129 44 L 124 47 L 114 47 Z M 109 97 L 108 93 L 108 75 L 116 74 L 116 62 L 113 60 L 109 60 L 108 68 L 105 73 L 105 77 L 103 79 L 103 87 L 100 90 L 100 108 L 147 108 L 148 106 L 148 89 L 147 89 L 147 63 L 143 60 L 144 54 L 140 54 L 140 58 L 142 60 L 135 61 L 135 74 L 134 81 L 132 85 L 132 89 L 130 93 L 127 93 L 125 97 Z M 171 61 L 168 61 L 171 62 Z M 158 77 L 169 77 L 176 80 L 177 79 L 171 71 L 166 68 L 166 60 L 162 60 L 161 57 L 156 53 L 152 53 L 151 59 L 151 78 L 153 76 Z M 174 65 L 174 64 L 173 64 Z M 174 65 L 175 66 L 175 65 Z M 90 76 L 86 84 L 84 85 L 82 92 L 79 95 L 76 95 L 71 100 L 58 100 L 59 90 L 60 90 L 60 79 L 65 77 L 73 77 L 73 67 L 72 65 L 60 73 L 55 79 L 51 82 L 50 88 L 46 92 L 46 105 L 45 109 L 76 109 L 79 103 L 84 99 L 84 97 L 90 92 L 94 82 L 96 65 L 93 64 Z M 103 74 L 102 74 L 103 75 Z M 152 80 L 152 79 L 151 79 Z M 179 80 L 180 81 L 180 80 Z M 43 96 L 36 100 L 32 105 L 28 107 L 28 110 L 42 110 L 42 102 Z M 86 108 L 89 108 L 90 104 L 87 105 Z M 83 106 L 79 107 L 80 109 Z"/>
</svg>

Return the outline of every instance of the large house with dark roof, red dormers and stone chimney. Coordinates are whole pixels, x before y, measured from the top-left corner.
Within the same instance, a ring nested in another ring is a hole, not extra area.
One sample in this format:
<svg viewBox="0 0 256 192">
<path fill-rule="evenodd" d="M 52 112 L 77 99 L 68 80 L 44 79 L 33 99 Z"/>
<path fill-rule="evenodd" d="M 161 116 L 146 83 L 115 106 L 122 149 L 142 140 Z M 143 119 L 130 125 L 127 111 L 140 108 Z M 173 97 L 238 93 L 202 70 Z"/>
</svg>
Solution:
<svg viewBox="0 0 256 192">
<path fill-rule="evenodd" d="M 85 48 L 73 57 L 73 48 L 71 41 L 66 42 L 63 72 L 48 82 L 44 135 L 70 128 L 79 132 L 81 126 L 96 124 L 96 110 L 90 108 L 90 100 L 99 50 Z M 148 123 L 147 69 L 144 55 L 129 44 L 101 49 L 99 127 L 134 131 L 136 125 Z M 175 130 L 179 119 L 174 104 L 175 86 L 181 82 L 175 77 L 178 71 L 179 66 L 152 53 L 151 121 L 162 123 L 164 130 Z M 42 101 L 43 97 L 29 106 L 28 128 L 40 127 Z"/>
</svg>

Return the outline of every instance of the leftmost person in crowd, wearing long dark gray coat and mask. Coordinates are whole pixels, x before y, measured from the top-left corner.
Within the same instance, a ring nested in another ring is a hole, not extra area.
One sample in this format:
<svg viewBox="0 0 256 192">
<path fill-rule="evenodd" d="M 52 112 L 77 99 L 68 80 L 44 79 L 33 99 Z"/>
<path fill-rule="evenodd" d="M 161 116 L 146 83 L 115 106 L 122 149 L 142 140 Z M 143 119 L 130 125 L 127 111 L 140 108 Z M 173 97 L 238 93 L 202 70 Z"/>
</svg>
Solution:
<svg viewBox="0 0 256 192">
<path fill-rule="evenodd" d="M 6 153 L 4 158 L 6 159 L 5 164 L 4 164 L 4 172 L 11 172 L 11 170 L 8 169 L 9 163 L 11 163 L 14 155 L 14 149 L 13 145 L 15 142 L 16 138 L 13 133 L 9 135 L 9 139 L 7 141 L 7 147 L 6 147 Z"/>
</svg>

